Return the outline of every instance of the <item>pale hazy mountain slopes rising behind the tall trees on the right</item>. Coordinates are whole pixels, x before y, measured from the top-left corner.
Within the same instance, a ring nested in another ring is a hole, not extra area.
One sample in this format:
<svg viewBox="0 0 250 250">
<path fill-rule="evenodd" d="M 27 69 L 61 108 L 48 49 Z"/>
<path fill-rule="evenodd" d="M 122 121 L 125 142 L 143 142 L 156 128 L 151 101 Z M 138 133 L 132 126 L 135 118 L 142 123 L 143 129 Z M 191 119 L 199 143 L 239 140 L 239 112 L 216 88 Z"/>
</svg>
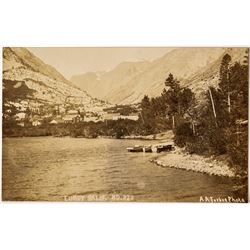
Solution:
<svg viewBox="0 0 250 250">
<path fill-rule="evenodd" d="M 233 54 L 236 60 L 244 51 L 242 48 L 179 48 L 152 62 L 120 64 L 101 76 L 86 73 L 71 80 L 93 96 L 111 103 L 136 103 L 145 94 L 150 97 L 159 95 L 169 73 L 178 78 L 181 84 L 202 91 L 206 88 L 204 76 L 218 75 L 220 60 L 226 52 Z"/>
</svg>

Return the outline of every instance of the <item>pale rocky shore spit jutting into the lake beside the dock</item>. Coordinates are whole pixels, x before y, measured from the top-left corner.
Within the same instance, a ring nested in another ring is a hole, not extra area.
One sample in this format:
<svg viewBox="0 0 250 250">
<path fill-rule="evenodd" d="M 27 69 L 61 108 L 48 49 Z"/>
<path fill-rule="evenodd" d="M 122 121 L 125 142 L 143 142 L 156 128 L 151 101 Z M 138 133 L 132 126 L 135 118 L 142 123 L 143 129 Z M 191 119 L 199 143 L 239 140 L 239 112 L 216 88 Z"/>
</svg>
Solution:
<svg viewBox="0 0 250 250">
<path fill-rule="evenodd" d="M 179 148 L 153 159 L 152 162 L 161 167 L 185 169 L 209 175 L 236 177 L 225 161 L 195 154 L 190 155 Z"/>
</svg>

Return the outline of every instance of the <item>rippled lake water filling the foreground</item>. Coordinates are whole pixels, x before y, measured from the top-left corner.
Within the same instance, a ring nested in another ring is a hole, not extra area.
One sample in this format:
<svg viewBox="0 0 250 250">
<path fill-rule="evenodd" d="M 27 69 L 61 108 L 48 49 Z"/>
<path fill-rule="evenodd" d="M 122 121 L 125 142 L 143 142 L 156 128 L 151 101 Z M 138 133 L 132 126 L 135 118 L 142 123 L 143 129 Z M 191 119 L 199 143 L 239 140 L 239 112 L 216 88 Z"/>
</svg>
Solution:
<svg viewBox="0 0 250 250">
<path fill-rule="evenodd" d="M 149 141 L 4 138 L 3 200 L 199 201 L 233 195 L 233 182 L 150 162 L 126 147 Z M 72 198 L 73 197 L 73 198 Z"/>
</svg>

